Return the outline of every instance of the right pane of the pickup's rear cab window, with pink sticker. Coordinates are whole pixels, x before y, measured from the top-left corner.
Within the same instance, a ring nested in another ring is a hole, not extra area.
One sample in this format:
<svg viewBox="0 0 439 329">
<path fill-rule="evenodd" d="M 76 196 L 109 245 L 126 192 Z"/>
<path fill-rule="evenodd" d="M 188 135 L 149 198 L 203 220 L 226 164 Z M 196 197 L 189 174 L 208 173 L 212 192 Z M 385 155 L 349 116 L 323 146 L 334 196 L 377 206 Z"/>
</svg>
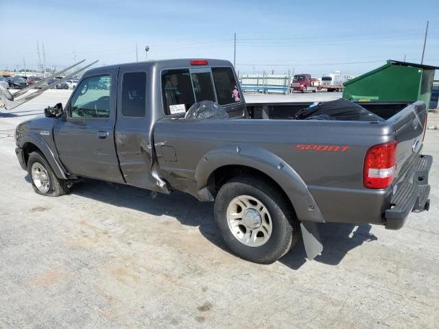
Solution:
<svg viewBox="0 0 439 329">
<path fill-rule="evenodd" d="M 213 67 L 212 74 L 219 105 L 241 101 L 235 76 L 230 67 Z"/>
</svg>

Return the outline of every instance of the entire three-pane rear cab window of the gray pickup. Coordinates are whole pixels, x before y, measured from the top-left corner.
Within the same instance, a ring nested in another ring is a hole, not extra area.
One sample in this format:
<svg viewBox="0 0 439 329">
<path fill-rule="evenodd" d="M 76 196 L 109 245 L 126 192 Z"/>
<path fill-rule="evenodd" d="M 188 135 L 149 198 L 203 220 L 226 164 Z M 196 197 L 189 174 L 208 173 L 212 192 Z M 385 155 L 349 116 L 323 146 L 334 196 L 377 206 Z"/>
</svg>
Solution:
<svg viewBox="0 0 439 329">
<path fill-rule="evenodd" d="M 228 106 L 241 96 L 231 67 L 169 69 L 161 75 L 165 115 L 183 117 L 195 101 L 216 101 Z"/>
</svg>

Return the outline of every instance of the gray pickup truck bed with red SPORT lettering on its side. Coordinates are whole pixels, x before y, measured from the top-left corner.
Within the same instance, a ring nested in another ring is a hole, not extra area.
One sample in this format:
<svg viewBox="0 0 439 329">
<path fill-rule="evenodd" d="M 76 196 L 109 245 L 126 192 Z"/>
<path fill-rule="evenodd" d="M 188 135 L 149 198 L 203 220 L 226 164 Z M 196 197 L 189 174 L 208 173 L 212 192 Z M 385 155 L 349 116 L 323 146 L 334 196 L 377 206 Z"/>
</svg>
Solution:
<svg viewBox="0 0 439 329">
<path fill-rule="evenodd" d="M 425 105 L 360 103 L 386 119 L 381 122 L 285 120 L 309 104 L 250 103 L 247 110 L 251 119 L 161 119 L 154 127 L 154 141 L 156 145 L 172 147 L 172 155 L 175 153 L 170 160 L 161 147 L 157 148 L 161 171 L 174 188 L 200 197 L 197 193 L 208 179 L 200 180 L 198 171 L 203 162 L 209 162 L 210 154 L 227 149 L 226 152 L 239 152 L 242 156 L 248 149 L 248 158 L 254 157 L 249 166 L 257 165 L 267 154 L 297 173 L 324 221 L 384 223 L 392 186 L 383 190 L 364 187 L 366 152 L 372 145 L 396 139 L 399 145 L 394 182 L 401 182 L 403 175 L 399 173 L 404 173 L 420 154 L 420 147 L 413 152 L 412 145 L 415 139 L 422 138 Z M 233 164 L 233 154 L 225 153 L 222 158 Z M 222 158 L 215 160 L 215 166 L 221 167 Z M 270 175 L 268 169 L 264 170 Z"/>
</svg>

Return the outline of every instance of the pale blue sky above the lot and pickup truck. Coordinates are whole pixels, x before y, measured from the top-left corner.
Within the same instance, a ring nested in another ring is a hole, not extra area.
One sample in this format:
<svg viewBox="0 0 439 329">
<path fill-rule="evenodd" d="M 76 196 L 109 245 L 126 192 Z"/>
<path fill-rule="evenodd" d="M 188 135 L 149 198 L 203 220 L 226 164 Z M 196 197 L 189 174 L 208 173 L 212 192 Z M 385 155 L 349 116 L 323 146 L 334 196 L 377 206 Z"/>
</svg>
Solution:
<svg viewBox="0 0 439 329">
<path fill-rule="evenodd" d="M 439 66 L 438 0 L 414 1 L 9 1 L 0 0 L 0 69 L 46 62 L 115 64 L 222 58 L 237 70 L 363 73 L 391 58 Z M 75 55 L 74 55 L 75 54 Z"/>
</svg>

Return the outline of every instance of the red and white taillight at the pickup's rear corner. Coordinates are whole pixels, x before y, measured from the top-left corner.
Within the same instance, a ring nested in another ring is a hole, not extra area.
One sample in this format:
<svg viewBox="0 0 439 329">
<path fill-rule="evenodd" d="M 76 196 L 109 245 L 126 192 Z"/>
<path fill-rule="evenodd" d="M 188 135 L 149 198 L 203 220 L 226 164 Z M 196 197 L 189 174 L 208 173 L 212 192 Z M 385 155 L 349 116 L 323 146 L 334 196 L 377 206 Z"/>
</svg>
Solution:
<svg viewBox="0 0 439 329">
<path fill-rule="evenodd" d="M 395 175 L 396 141 L 370 147 L 364 159 L 363 184 L 367 188 L 387 188 Z"/>
</svg>

